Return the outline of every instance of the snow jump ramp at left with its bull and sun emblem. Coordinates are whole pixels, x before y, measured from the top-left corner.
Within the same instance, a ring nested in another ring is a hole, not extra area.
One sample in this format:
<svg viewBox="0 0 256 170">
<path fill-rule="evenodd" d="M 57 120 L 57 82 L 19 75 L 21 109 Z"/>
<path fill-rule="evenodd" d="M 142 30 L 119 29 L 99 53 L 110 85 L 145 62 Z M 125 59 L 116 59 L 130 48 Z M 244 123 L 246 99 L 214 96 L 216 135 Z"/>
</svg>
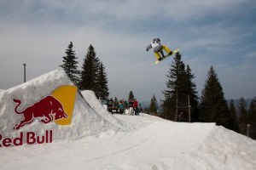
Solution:
<svg viewBox="0 0 256 170">
<path fill-rule="evenodd" d="M 46 138 L 47 142 L 49 138 L 75 140 L 125 128 L 115 117 L 93 109 L 61 69 L 2 90 L 0 117 L 0 133 L 2 138 L 8 138 L 7 146 L 14 145 L 9 140 L 20 138 L 20 133 L 25 140 L 32 141 L 37 136 L 39 143 L 45 143 Z"/>
</svg>

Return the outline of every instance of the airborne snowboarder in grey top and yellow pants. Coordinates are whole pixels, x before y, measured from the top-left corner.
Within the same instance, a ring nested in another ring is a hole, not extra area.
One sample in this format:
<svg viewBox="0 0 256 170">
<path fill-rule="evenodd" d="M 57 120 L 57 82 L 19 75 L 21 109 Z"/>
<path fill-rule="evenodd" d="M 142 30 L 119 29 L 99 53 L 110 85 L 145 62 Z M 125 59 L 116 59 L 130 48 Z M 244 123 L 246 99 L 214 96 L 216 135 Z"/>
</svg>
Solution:
<svg viewBox="0 0 256 170">
<path fill-rule="evenodd" d="M 166 45 L 160 43 L 160 38 L 156 37 L 153 39 L 152 42 L 148 45 L 146 50 L 148 51 L 150 48 L 153 48 L 154 55 L 157 60 L 162 60 L 165 58 L 165 54 L 163 52 L 163 49 L 166 51 L 167 54 L 172 55 L 172 50 L 168 48 Z"/>
</svg>

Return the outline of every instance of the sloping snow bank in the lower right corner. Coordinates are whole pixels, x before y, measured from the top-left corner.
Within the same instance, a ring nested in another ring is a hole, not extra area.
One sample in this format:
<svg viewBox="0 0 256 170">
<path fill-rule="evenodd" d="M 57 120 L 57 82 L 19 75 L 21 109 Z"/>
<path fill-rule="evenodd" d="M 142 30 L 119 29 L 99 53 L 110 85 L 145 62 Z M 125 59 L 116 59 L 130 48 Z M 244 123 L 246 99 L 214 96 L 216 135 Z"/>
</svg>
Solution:
<svg viewBox="0 0 256 170">
<path fill-rule="evenodd" d="M 192 159 L 193 158 L 193 159 Z M 186 167 L 256 169 L 256 141 L 221 126 L 212 128 L 198 150 L 189 154 Z M 183 166 L 182 166 L 183 167 Z"/>
</svg>

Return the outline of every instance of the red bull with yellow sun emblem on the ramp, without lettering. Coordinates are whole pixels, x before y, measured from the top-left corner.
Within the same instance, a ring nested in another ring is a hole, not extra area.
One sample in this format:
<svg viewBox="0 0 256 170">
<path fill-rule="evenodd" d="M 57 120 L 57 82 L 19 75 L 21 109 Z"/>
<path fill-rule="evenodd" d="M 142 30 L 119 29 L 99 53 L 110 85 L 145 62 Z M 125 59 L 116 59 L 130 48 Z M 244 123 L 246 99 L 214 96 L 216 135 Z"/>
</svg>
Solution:
<svg viewBox="0 0 256 170">
<path fill-rule="evenodd" d="M 44 124 L 55 122 L 59 125 L 68 125 L 72 121 L 74 101 L 77 94 L 75 86 L 61 86 L 56 88 L 51 95 L 39 99 L 33 105 L 27 106 L 23 111 L 18 111 L 20 99 L 13 99 L 16 103 L 15 113 L 22 115 L 23 119 L 15 124 L 18 130 L 38 119 Z"/>
</svg>

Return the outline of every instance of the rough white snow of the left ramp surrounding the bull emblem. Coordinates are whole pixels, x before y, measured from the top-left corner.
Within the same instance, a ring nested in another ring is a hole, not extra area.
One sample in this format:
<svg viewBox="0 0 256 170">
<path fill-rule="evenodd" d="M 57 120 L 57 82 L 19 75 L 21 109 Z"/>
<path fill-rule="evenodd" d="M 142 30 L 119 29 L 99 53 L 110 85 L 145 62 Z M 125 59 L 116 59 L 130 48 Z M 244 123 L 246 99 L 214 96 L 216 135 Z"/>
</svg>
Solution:
<svg viewBox="0 0 256 170">
<path fill-rule="evenodd" d="M 14 130 L 14 125 L 20 122 L 21 116 L 15 114 L 13 99 L 20 99 L 22 103 L 19 107 L 25 108 L 27 105 L 32 105 L 45 96 L 50 95 L 55 88 L 64 85 L 73 85 L 73 82 L 67 77 L 65 71 L 58 69 L 14 88 L 2 91 L 0 93 L 0 132 L 2 135 L 7 137 L 16 136 L 20 131 L 33 131 L 40 135 L 44 134 L 45 130 L 50 129 L 53 130 L 54 140 L 73 140 L 81 139 L 88 135 L 119 131 L 121 125 L 115 127 L 112 122 L 109 122 L 110 119 L 107 120 L 91 108 L 79 93 L 76 95 L 73 118 L 70 125 L 61 126 L 55 124 L 55 122 L 44 124 L 35 120 L 32 124 L 27 124 L 19 130 Z"/>
</svg>

